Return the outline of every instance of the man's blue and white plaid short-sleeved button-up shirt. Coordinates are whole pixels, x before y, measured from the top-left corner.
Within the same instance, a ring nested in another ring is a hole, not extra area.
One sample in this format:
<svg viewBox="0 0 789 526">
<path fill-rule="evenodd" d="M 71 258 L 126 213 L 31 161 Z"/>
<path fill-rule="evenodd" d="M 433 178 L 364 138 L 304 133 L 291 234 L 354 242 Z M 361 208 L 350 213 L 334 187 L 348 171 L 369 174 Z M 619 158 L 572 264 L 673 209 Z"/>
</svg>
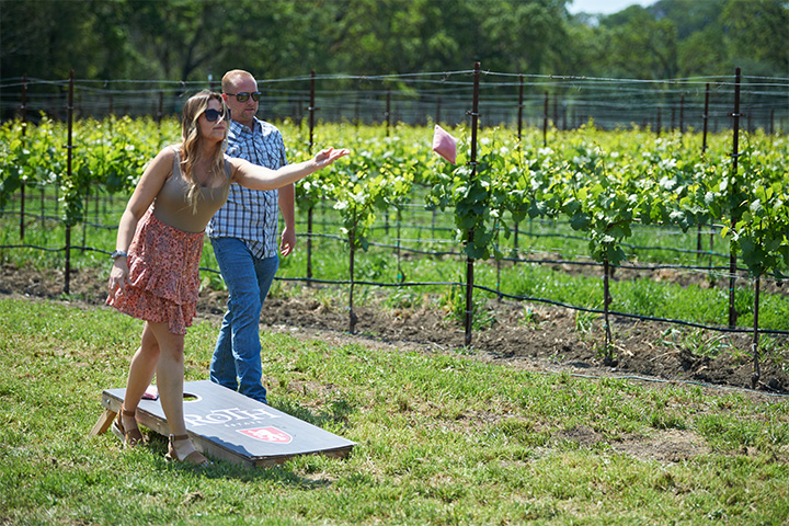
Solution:
<svg viewBox="0 0 789 526">
<path fill-rule="evenodd" d="M 227 156 L 272 170 L 287 164 L 282 134 L 272 124 L 258 118 L 254 119 L 252 130 L 230 121 Z M 279 193 L 276 190 L 249 190 L 232 183 L 227 203 L 208 222 L 206 233 L 211 238 L 242 239 L 255 256 L 273 258 L 279 244 L 278 202 Z"/>
</svg>

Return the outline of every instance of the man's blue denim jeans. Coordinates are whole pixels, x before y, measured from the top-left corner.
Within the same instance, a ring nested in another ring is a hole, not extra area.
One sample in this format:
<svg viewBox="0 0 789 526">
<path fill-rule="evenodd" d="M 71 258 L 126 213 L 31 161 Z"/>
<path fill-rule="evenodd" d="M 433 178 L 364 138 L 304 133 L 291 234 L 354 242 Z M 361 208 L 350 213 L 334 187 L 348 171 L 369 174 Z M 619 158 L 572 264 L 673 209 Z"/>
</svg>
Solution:
<svg viewBox="0 0 789 526">
<path fill-rule="evenodd" d="M 211 356 L 210 380 L 267 403 L 261 382 L 260 313 L 279 258 L 258 259 L 236 238 L 211 238 L 210 242 L 230 293 Z"/>
</svg>

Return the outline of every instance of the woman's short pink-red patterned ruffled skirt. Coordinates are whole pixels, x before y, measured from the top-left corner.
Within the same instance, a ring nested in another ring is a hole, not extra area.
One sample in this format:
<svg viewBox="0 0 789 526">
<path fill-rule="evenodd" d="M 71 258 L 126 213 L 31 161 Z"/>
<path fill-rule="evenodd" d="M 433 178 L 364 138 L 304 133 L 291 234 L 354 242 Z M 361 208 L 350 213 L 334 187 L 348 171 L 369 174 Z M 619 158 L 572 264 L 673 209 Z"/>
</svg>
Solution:
<svg viewBox="0 0 789 526">
<path fill-rule="evenodd" d="M 164 225 L 149 208 L 137 225 L 128 250 L 125 290 L 110 290 L 107 305 L 140 320 L 168 323 L 186 334 L 197 311 L 203 232 Z"/>
</svg>

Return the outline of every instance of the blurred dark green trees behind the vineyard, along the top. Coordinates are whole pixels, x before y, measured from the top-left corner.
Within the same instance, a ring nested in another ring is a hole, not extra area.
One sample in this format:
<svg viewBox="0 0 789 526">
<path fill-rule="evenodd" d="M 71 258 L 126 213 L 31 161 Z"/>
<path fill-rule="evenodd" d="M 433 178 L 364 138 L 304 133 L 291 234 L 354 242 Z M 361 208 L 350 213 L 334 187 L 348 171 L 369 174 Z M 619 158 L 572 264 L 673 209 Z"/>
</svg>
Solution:
<svg viewBox="0 0 789 526">
<path fill-rule="evenodd" d="M 0 77 L 218 80 L 469 69 L 672 79 L 789 72 L 786 0 L 0 0 Z M 11 90 L 12 91 L 12 90 Z M 4 90 L 8 93 L 8 90 Z"/>
</svg>

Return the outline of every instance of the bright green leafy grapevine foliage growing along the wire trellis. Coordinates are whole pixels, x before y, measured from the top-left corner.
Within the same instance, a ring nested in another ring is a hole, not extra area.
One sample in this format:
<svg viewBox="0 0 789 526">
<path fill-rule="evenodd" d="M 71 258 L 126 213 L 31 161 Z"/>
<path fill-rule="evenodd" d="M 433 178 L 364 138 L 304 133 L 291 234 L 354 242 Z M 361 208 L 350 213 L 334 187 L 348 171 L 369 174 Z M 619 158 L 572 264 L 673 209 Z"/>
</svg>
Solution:
<svg viewBox="0 0 789 526">
<path fill-rule="evenodd" d="M 745 146 L 735 172 L 731 138 L 723 135 L 710 137 L 701 155 L 696 137 L 681 134 L 655 137 L 642 130 L 604 133 L 586 126 L 557 134 L 551 146 L 544 147 L 537 133 L 516 140 L 506 129 L 484 128 L 472 170 L 464 128 L 453 132 L 461 137 L 458 165 L 430 150 L 425 127 L 399 126 L 387 137 L 375 126 L 321 125 L 318 130 L 321 145 L 350 147 L 352 156 L 299 183 L 299 206 L 333 208 L 344 239 L 354 248 L 369 249 L 376 224 L 388 228 L 392 211 L 424 208 L 443 210 L 442 225 L 450 227 L 459 250 L 480 261 L 501 258 L 500 233 L 511 236 L 513 227 L 526 220 L 561 226 L 587 244 L 586 255 L 613 265 L 632 256 L 638 229 L 688 232 L 717 225 L 724 227 L 724 244 L 731 241 L 752 274 L 788 273 L 784 181 L 789 142 L 782 137 L 743 134 Z M 80 121 L 75 125 L 70 178 L 65 170 L 62 124 L 43 118 L 37 126 L 27 125 L 24 137 L 21 132 L 18 122 L 0 128 L 0 205 L 24 182 L 41 188 L 42 195 L 56 193 L 60 218 L 70 226 L 84 226 L 88 199 L 118 194 L 123 201 L 162 144 L 175 140 L 178 125 L 173 119 L 159 125 L 126 117 Z M 298 135 L 293 129 L 286 134 Z M 302 151 L 288 155 L 293 160 L 302 156 Z M 335 236 L 336 228 L 329 233 Z M 578 252 L 584 252 L 579 245 Z M 552 250 L 564 249 L 558 243 Z M 386 272 L 393 266 L 375 268 Z M 397 266 L 404 275 L 400 261 Z M 514 294 L 547 297 L 544 289 L 529 288 L 531 284 L 522 286 L 521 279 L 510 277 Z M 552 288 L 551 298 L 593 308 L 601 305 L 594 295 L 579 300 L 578 288 L 560 284 Z M 714 307 L 706 305 L 693 313 L 695 319 L 717 322 L 717 315 L 710 313 Z M 775 310 L 775 316 L 781 311 Z M 661 316 L 658 310 L 650 313 Z"/>
</svg>

